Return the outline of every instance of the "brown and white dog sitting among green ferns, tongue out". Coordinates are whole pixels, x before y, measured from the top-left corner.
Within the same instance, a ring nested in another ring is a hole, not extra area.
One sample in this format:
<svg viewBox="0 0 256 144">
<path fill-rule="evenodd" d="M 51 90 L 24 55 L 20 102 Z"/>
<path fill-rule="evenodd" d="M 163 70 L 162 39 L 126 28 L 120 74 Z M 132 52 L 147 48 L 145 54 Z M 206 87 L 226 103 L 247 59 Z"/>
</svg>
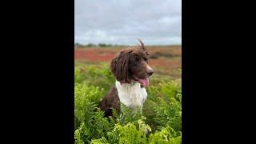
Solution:
<svg viewBox="0 0 256 144">
<path fill-rule="evenodd" d="M 105 112 L 105 116 L 112 115 L 111 107 L 120 110 L 120 103 L 137 109 L 146 100 L 147 93 L 145 86 L 149 86 L 149 77 L 154 73 L 148 62 L 150 54 L 147 53 L 143 42 L 138 39 L 141 46 L 134 46 L 121 50 L 112 59 L 110 69 L 116 78 L 115 86 L 98 104 L 98 107 Z"/>
</svg>

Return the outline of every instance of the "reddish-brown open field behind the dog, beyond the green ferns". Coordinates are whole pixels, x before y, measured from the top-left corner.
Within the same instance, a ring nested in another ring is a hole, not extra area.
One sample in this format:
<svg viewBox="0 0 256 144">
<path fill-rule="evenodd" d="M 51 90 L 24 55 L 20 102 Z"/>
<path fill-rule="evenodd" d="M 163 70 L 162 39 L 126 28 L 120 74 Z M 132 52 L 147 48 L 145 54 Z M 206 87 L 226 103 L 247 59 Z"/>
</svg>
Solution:
<svg viewBox="0 0 256 144">
<path fill-rule="evenodd" d="M 110 62 L 119 50 L 126 47 L 76 47 L 74 59 L 87 64 L 100 64 Z M 181 46 L 148 46 L 146 50 L 150 53 L 150 66 L 154 74 L 169 75 L 181 78 L 179 68 L 182 68 Z"/>
</svg>

